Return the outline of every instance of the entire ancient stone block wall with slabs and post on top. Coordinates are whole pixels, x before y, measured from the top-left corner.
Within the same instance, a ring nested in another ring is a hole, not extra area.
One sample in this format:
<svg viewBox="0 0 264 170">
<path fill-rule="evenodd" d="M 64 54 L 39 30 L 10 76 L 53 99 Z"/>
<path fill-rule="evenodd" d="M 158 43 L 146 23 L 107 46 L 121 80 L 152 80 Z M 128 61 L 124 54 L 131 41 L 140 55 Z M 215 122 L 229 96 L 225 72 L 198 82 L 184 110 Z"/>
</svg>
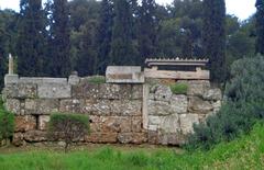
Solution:
<svg viewBox="0 0 264 170">
<path fill-rule="evenodd" d="M 12 58 L 10 58 L 12 63 Z M 179 145 L 200 123 L 221 106 L 221 91 L 212 88 L 208 60 L 147 59 L 141 67 L 113 67 L 105 83 L 73 73 L 69 78 L 25 78 L 10 68 L 3 99 L 15 114 L 13 144 L 47 141 L 53 112 L 73 112 L 90 117 L 86 143 Z M 191 71 L 160 70 L 161 66 L 188 66 Z M 11 66 L 12 67 L 12 66 Z M 187 92 L 175 94 L 170 84 L 186 83 Z"/>
</svg>

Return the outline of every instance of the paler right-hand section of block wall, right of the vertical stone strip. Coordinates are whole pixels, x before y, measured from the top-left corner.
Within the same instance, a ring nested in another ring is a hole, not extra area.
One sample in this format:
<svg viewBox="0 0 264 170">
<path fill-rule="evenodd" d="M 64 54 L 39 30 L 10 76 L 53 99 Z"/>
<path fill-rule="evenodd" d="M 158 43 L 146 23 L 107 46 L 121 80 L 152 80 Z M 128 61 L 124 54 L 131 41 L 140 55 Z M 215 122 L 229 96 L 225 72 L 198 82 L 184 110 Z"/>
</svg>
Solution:
<svg viewBox="0 0 264 170">
<path fill-rule="evenodd" d="M 151 80 L 153 81 L 153 80 Z M 148 83 L 148 143 L 179 145 L 199 124 L 221 106 L 221 91 L 207 80 L 178 81 L 188 84 L 187 94 L 173 94 L 172 82 Z"/>
</svg>

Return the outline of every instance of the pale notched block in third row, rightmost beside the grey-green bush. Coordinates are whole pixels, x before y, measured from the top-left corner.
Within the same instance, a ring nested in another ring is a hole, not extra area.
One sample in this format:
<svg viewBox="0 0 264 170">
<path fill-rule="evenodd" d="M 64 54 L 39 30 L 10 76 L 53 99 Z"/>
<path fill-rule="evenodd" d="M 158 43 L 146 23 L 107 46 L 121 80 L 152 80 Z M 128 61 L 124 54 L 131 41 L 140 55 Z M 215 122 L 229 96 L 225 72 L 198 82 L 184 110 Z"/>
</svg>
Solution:
<svg viewBox="0 0 264 170">
<path fill-rule="evenodd" d="M 194 124 L 199 124 L 198 114 L 180 114 L 179 115 L 180 128 L 184 135 L 194 133 Z"/>
</svg>

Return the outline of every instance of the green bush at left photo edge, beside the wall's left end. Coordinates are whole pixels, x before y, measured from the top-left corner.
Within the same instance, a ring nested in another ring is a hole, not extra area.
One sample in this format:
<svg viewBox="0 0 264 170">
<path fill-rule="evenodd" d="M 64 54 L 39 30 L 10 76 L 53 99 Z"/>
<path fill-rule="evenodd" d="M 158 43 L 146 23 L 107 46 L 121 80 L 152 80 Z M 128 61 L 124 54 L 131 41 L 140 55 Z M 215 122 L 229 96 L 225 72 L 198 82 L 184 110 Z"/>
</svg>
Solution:
<svg viewBox="0 0 264 170">
<path fill-rule="evenodd" d="M 8 112 L 4 109 L 0 95 L 0 146 L 8 145 L 8 141 L 13 136 L 13 132 L 14 132 L 14 114 Z"/>
</svg>

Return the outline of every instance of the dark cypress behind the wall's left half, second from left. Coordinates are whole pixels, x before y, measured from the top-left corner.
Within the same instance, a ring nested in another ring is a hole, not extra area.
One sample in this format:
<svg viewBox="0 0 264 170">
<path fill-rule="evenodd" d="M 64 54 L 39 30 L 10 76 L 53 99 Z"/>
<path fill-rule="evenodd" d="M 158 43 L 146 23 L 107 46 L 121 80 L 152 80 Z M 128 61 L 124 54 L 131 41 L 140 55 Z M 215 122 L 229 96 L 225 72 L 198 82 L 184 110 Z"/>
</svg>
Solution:
<svg viewBox="0 0 264 170">
<path fill-rule="evenodd" d="M 70 73 L 69 60 L 69 10 L 67 0 L 54 0 L 51 5 L 51 75 L 67 77 Z"/>
</svg>

